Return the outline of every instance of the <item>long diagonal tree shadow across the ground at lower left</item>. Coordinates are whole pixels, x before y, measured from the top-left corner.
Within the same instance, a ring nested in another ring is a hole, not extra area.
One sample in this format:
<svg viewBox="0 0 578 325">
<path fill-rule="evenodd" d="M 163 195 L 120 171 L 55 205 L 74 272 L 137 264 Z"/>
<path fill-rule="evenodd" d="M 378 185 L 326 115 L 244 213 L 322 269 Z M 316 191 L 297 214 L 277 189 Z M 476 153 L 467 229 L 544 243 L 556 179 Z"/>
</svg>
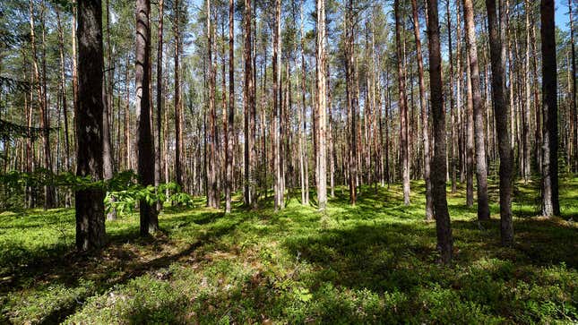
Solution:
<svg viewBox="0 0 578 325">
<path fill-rule="evenodd" d="M 206 212 L 188 217 L 168 218 L 168 222 L 164 224 L 161 219 L 161 227 L 172 227 L 183 222 L 209 225 L 221 217 L 222 213 Z M 0 285 L 0 295 L 21 290 L 30 286 L 30 283 L 36 283 L 37 286 L 63 285 L 73 288 L 79 287 L 80 281 L 93 281 L 94 286 L 84 295 L 77 297 L 73 304 L 59 306 L 41 321 L 45 324 L 58 323 L 75 312 L 91 295 L 105 292 L 110 287 L 125 284 L 130 279 L 156 269 L 166 268 L 175 261 L 194 260 L 195 252 L 200 247 L 216 243 L 221 236 L 232 232 L 239 223 L 240 220 L 237 219 L 236 222 L 206 227 L 208 230 L 196 234 L 192 243 L 174 243 L 162 232 L 141 237 L 138 227 L 128 227 L 108 235 L 108 245 L 99 252 L 80 253 L 70 251 L 69 248 L 64 256 L 54 255 L 55 257 L 33 261 L 13 269 L 12 277 Z M 129 242 L 133 244 L 127 244 Z"/>
</svg>

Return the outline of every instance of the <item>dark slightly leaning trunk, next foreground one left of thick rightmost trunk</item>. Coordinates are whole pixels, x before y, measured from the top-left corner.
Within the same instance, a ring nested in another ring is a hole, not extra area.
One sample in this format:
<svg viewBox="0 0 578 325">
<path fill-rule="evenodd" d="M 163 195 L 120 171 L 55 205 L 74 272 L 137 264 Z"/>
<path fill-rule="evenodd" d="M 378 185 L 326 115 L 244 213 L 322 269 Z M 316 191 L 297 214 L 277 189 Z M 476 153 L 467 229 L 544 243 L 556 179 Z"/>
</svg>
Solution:
<svg viewBox="0 0 578 325">
<path fill-rule="evenodd" d="M 486 0 L 487 28 L 492 64 L 492 100 L 496 119 L 498 150 L 500 154 L 500 235 L 502 244 L 513 244 L 512 223 L 512 150 L 508 120 L 510 107 L 505 98 L 505 14 L 504 0 L 499 0 L 500 20 L 496 14 L 496 0 Z"/>
</svg>

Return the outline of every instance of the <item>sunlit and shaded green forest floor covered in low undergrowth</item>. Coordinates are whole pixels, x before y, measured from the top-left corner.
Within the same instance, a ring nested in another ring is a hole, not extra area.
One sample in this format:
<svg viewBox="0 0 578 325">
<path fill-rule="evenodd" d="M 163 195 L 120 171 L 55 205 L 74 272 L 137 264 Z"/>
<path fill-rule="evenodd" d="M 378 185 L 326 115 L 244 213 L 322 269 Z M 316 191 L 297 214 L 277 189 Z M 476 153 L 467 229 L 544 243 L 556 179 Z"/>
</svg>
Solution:
<svg viewBox="0 0 578 325">
<path fill-rule="evenodd" d="M 102 252 L 73 252 L 73 210 L 0 214 L 0 323 L 575 323 L 578 178 L 561 183 L 562 218 L 536 216 L 535 185 L 516 184 L 515 246 L 479 223 L 465 189 L 448 194 L 454 261 L 438 264 L 424 185 L 338 188 L 321 214 L 168 208 L 162 233 L 138 214 L 107 222 Z M 315 195 L 312 193 L 312 198 Z M 239 198 L 237 198 L 239 199 Z"/>
</svg>

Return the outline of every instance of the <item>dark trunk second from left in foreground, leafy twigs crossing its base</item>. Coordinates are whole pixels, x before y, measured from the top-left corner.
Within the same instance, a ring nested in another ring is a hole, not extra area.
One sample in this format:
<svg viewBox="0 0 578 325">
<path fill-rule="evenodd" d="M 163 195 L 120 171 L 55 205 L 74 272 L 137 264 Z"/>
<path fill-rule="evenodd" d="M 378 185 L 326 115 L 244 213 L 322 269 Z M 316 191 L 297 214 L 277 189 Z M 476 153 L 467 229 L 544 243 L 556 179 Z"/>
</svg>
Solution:
<svg viewBox="0 0 578 325">
<path fill-rule="evenodd" d="M 151 133 L 151 2 L 136 0 L 135 89 L 138 147 L 138 175 L 142 186 L 154 184 L 154 141 Z M 139 202 L 141 235 L 159 230 L 155 206 L 146 200 Z"/>
</svg>

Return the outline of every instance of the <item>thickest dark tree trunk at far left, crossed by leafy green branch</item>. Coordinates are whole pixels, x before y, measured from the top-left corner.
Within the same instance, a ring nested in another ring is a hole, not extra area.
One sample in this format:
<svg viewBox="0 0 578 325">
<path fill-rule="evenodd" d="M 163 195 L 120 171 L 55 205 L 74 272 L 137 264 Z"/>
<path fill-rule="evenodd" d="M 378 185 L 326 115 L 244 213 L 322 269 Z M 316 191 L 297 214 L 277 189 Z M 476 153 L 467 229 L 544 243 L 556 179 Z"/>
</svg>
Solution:
<svg viewBox="0 0 578 325">
<path fill-rule="evenodd" d="M 100 0 L 78 4 L 78 84 L 76 111 L 76 175 L 102 180 L 102 4 Z M 88 251 L 106 242 L 104 192 L 84 189 L 75 192 L 76 248 Z"/>
</svg>

